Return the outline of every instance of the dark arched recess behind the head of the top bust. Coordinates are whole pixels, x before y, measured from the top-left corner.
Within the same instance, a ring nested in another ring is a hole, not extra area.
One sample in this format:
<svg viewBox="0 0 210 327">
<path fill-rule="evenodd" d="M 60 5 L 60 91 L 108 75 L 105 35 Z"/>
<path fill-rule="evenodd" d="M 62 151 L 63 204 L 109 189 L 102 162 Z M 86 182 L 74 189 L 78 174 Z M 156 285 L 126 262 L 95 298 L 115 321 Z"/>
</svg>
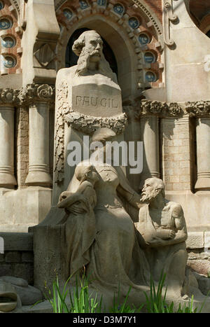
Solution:
<svg viewBox="0 0 210 327">
<path fill-rule="evenodd" d="M 90 29 L 82 28 L 82 29 L 76 29 L 75 32 L 71 35 L 71 38 L 69 39 L 69 42 L 66 47 L 66 67 L 72 67 L 77 64 L 78 57 L 73 53 L 72 46 L 73 42 L 78 39 L 80 34 L 82 34 L 85 31 L 90 31 Z M 113 54 L 113 50 L 111 50 L 111 47 L 109 46 L 109 43 L 106 42 L 102 38 L 104 44 L 103 44 L 103 53 L 106 60 L 109 62 L 111 69 L 114 73 L 118 76 L 118 64 L 116 61 L 116 57 Z"/>
</svg>

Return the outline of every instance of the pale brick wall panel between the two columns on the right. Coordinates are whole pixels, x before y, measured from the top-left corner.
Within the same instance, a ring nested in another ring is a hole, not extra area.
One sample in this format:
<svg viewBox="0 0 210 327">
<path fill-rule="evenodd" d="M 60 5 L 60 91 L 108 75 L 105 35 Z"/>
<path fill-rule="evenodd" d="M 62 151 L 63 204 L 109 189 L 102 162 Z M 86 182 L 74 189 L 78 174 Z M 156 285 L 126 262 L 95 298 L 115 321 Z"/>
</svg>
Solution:
<svg viewBox="0 0 210 327">
<path fill-rule="evenodd" d="M 193 188 L 193 132 L 189 118 L 161 121 L 162 179 L 166 190 Z"/>
</svg>

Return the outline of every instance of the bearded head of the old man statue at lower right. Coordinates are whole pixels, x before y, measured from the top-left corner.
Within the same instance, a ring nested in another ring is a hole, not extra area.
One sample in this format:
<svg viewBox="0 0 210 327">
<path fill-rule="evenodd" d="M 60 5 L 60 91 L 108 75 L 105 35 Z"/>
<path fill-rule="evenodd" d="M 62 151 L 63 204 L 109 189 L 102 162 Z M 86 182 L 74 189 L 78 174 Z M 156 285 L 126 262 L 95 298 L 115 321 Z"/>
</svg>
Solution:
<svg viewBox="0 0 210 327">
<path fill-rule="evenodd" d="M 155 177 L 151 179 L 146 179 L 144 183 L 144 188 L 141 193 L 142 202 L 151 202 L 158 195 L 165 197 L 165 184 L 162 179 L 157 179 Z"/>
</svg>

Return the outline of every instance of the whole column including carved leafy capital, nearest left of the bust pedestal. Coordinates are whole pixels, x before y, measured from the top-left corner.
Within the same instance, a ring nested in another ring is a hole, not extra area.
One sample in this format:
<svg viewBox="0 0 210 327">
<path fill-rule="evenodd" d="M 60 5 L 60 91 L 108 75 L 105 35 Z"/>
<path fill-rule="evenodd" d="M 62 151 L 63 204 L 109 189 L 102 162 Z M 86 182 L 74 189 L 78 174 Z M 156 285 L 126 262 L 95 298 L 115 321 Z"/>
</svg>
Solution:
<svg viewBox="0 0 210 327">
<path fill-rule="evenodd" d="M 28 186 L 52 186 L 49 165 L 50 102 L 55 92 L 48 84 L 27 85 L 29 104 L 29 174 Z"/>
</svg>

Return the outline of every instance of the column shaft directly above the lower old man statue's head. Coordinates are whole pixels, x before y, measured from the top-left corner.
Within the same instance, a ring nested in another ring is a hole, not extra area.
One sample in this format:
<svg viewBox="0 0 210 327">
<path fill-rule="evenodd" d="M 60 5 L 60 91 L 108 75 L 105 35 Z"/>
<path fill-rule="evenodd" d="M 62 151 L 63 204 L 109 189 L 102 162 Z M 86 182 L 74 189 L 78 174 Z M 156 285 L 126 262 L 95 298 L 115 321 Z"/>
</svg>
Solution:
<svg viewBox="0 0 210 327">
<path fill-rule="evenodd" d="M 160 178 L 159 156 L 159 118 L 155 115 L 141 116 L 141 141 L 144 142 L 143 172 L 140 189 L 144 181 L 150 177 Z"/>
</svg>

